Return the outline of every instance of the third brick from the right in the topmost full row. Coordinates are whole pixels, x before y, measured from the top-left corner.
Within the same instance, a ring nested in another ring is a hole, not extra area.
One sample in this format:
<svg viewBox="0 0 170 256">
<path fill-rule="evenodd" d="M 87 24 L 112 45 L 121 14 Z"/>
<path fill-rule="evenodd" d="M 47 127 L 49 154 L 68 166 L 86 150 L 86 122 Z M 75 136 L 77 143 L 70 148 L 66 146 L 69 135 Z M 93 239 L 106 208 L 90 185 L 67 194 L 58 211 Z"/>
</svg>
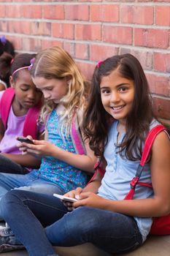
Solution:
<svg viewBox="0 0 170 256">
<path fill-rule="evenodd" d="M 119 20 L 119 6 L 117 4 L 91 5 L 90 20 L 117 22 Z"/>
</svg>

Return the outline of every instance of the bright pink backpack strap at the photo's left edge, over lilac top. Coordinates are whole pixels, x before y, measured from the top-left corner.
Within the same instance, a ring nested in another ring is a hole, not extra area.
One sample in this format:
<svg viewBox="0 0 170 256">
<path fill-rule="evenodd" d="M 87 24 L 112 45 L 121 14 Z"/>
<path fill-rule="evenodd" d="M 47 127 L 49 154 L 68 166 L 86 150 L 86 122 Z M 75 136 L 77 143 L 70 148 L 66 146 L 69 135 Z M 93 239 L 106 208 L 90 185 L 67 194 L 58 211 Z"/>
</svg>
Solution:
<svg viewBox="0 0 170 256">
<path fill-rule="evenodd" d="M 6 89 L 1 97 L 0 111 L 1 120 L 4 124 L 4 129 L 7 129 L 7 120 L 9 116 L 9 110 L 12 105 L 12 100 L 15 97 L 15 89 L 12 87 Z"/>
</svg>

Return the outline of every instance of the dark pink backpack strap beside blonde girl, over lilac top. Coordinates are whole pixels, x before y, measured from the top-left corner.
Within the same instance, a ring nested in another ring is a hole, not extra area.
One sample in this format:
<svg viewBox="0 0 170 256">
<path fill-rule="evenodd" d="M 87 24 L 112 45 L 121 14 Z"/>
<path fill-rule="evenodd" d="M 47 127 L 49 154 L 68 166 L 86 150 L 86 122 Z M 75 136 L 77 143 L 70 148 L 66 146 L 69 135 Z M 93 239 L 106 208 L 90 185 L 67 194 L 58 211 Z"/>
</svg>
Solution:
<svg viewBox="0 0 170 256">
<path fill-rule="evenodd" d="M 23 136 L 31 135 L 34 140 L 37 138 L 37 122 L 39 118 L 39 112 L 42 108 L 42 102 L 39 102 L 33 108 L 28 110 L 26 120 L 23 125 Z"/>
</svg>

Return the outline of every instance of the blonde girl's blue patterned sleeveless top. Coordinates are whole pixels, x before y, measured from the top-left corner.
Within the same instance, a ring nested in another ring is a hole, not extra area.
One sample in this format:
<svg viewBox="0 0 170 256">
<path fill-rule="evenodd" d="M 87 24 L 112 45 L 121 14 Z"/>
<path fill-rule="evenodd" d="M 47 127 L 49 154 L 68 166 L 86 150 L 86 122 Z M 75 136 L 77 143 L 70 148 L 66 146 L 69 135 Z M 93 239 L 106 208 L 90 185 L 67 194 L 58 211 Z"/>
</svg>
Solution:
<svg viewBox="0 0 170 256">
<path fill-rule="evenodd" d="M 47 118 L 48 141 L 65 151 L 76 154 L 72 138 L 61 136 L 59 116 L 56 110 Z M 64 131 L 63 131 L 64 133 Z M 57 184 L 64 192 L 77 187 L 85 187 L 88 175 L 82 171 L 54 157 L 43 157 L 39 168 L 39 176 Z"/>
</svg>

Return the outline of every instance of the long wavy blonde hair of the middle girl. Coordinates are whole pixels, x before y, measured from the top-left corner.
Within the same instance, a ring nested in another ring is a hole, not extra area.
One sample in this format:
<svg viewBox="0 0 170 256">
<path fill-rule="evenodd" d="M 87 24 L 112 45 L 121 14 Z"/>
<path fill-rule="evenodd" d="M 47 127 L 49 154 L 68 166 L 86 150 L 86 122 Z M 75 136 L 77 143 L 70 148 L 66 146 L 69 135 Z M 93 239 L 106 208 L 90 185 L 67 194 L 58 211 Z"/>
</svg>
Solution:
<svg viewBox="0 0 170 256">
<path fill-rule="evenodd" d="M 61 130 L 63 131 L 65 127 L 66 135 L 68 135 L 75 111 L 83 110 L 86 106 L 89 89 L 87 81 L 83 78 L 72 56 L 58 46 L 42 50 L 36 56 L 31 68 L 31 76 L 49 80 L 70 78 L 68 92 L 60 101 L 64 106 L 64 111 L 60 113 Z M 43 121 L 56 106 L 52 101 L 45 101 L 41 115 Z"/>
</svg>

